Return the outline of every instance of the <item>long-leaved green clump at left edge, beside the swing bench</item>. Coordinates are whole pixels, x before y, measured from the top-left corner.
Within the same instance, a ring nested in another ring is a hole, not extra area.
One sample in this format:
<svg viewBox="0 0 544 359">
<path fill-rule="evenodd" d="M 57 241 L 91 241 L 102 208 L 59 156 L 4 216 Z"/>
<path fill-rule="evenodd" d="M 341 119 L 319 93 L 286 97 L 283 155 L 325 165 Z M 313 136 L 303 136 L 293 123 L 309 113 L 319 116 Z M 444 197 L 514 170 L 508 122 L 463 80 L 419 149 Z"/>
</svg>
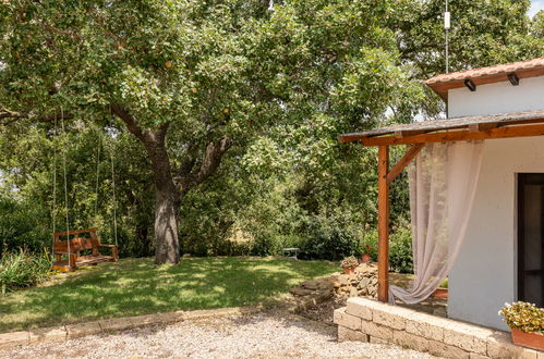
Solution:
<svg viewBox="0 0 544 359">
<path fill-rule="evenodd" d="M 5 293 L 34 286 L 51 274 L 51 257 L 32 255 L 21 249 L 13 253 L 3 253 L 0 258 L 0 290 Z"/>
</svg>

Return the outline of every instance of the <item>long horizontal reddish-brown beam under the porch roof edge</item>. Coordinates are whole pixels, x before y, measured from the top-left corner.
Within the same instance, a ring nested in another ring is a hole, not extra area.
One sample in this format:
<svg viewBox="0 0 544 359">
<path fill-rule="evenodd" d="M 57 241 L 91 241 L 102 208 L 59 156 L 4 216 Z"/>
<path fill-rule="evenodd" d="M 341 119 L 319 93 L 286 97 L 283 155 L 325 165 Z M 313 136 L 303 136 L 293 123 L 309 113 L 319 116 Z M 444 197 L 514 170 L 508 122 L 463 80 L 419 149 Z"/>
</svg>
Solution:
<svg viewBox="0 0 544 359">
<path fill-rule="evenodd" d="M 472 139 L 493 139 L 493 138 L 510 138 L 510 137 L 531 137 L 543 136 L 544 124 L 537 125 L 517 125 L 491 128 L 481 132 L 471 132 L 470 129 L 438 132 L 431 134 L 422 134 L 397 138 L 395 136 L 384 137 L 361 137 L 364 146 L 390 146 L 390 145 L 412 145 L 412 144 L 432 144 L 446 143 L 456 140 L 472 140 Z"/>
</svg>

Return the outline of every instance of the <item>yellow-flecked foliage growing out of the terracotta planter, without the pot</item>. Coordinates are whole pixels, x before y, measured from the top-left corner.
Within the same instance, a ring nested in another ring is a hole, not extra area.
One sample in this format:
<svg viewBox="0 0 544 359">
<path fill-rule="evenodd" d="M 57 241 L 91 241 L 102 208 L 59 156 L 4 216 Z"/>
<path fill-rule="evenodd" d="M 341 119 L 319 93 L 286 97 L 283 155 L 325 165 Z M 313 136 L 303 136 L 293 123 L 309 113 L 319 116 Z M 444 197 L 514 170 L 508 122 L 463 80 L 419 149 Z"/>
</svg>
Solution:
<svg viewBox="0 0 544 359">
<path fill-rule="evenodd" d="M 536 332 L 544 334 L 544 309 L 535 305 L 517 301 L 511 305 L 505 304 L 499 310 L 499 315 L 511 329 L 518 329 L 525 333 Z"/>
</svg>

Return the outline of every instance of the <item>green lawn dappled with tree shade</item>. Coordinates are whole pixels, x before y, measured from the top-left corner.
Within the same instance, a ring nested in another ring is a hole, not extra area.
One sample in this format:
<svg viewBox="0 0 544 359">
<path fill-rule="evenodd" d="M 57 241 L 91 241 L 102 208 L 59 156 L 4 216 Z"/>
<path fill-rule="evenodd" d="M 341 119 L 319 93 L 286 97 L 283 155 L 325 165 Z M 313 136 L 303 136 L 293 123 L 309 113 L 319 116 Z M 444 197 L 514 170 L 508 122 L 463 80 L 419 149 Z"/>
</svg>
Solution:
<svg viewBox="0 0 544 359">
<path fill-rule="evenodd" d="M 337 263 L 269 258 L 149 258 L 87 267 L 44 285 L 0 295 L 0 333 L 101 318 L 257 305 Z"/>
</svg>

